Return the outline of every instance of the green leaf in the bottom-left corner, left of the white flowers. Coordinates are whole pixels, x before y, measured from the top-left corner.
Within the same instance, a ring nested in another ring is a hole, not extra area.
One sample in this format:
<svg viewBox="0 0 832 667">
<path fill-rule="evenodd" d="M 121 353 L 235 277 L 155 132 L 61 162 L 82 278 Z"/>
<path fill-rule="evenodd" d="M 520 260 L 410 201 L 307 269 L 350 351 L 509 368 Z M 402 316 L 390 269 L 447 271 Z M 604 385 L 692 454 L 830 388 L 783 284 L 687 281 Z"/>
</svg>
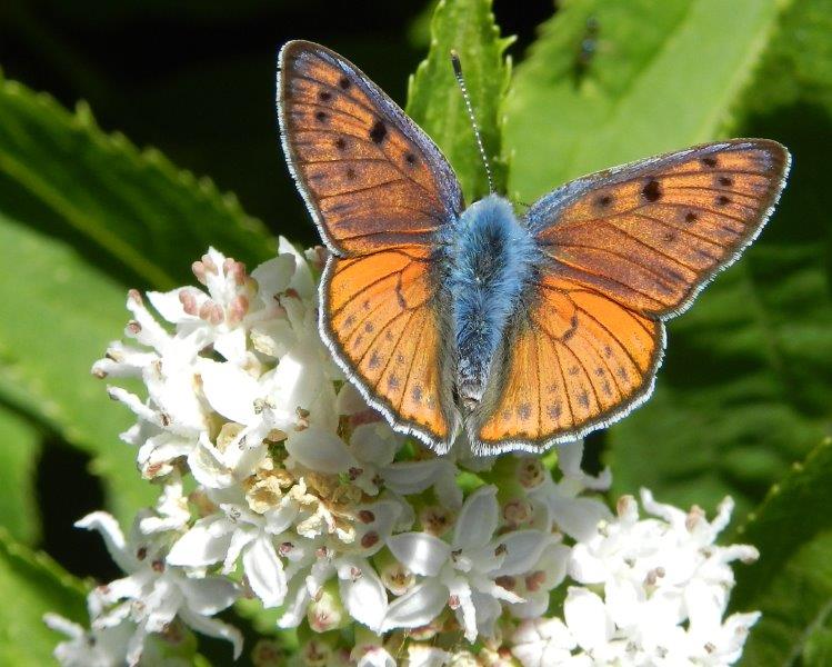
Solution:
<svg viewBox="0 0 832 667">
<path fill-rule="evenodd" d="M 0 529 L 0 665 L 51 665 L 59 636 L 48 611 L 86 625 L 87 589 L 46 554 L 16 544 Z"/>
</svg>

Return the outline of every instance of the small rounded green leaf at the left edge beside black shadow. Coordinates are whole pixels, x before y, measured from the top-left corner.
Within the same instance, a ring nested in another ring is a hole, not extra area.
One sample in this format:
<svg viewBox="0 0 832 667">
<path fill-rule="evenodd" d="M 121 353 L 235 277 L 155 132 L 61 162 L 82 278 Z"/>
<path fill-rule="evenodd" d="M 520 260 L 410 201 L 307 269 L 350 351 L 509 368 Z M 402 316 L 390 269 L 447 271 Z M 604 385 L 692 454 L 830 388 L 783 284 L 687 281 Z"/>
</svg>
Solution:
<svg viewBox="0 0 832 667">
<path fill-rule="evenodd" d="M 0 407 L 0 527 L 16 540 L 32 545 L 40 537 L 40 516 L 34 472 L 40 457 L 41 435 L 29 421 Z"/>
</svg>

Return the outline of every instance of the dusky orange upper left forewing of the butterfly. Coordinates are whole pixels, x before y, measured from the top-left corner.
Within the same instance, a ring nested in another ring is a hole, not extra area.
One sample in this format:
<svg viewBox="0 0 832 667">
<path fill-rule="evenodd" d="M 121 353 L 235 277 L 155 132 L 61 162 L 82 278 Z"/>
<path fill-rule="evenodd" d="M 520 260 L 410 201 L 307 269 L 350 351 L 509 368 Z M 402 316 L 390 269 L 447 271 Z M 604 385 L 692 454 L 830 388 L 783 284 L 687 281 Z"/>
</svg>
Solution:
<svg viewBox="0 0 832 667">
<path fill-rule="evenodd" d="M 324 47 L 280 53 L 283 145 L 330 250 L 425 245 L 462 210 L 433 142 L 353 64 Z"/>
</svg>

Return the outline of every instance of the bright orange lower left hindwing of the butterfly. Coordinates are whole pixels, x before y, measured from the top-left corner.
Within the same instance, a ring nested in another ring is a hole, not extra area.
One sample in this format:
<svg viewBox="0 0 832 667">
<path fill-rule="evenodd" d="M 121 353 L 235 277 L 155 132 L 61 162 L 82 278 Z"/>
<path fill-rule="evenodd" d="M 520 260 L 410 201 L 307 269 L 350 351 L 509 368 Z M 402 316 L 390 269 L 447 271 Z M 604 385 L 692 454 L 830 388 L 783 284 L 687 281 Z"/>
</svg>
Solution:
<svg viewBox="0 0 832 667">
<path fill-rule="evenodd" d="M 454 428 L 445 408 L 449 382 L 441 377 L 441 319 L 429 261 L 425 250 L 413 248 L 333 258 L 321 326 L 377 407 L 447 447 Z"/>
</svg>

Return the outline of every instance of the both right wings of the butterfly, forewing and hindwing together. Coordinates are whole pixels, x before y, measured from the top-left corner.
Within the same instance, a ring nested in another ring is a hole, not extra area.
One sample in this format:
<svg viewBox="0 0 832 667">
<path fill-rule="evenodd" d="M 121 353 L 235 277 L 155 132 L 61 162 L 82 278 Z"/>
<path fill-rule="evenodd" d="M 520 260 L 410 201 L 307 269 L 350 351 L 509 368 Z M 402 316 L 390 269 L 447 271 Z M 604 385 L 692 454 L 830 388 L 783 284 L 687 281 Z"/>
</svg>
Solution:
<svg viewBox="0 0 832 667">
<path fill-rule="evenodd" d="M 711 143 L 578 179 L 527 215 L 545 261 L 469 422 L 489 451 L 538 450 L 651 394 L 664 323 L 760 232 L 789 169 L 760 139 Z"/>
</svg>

